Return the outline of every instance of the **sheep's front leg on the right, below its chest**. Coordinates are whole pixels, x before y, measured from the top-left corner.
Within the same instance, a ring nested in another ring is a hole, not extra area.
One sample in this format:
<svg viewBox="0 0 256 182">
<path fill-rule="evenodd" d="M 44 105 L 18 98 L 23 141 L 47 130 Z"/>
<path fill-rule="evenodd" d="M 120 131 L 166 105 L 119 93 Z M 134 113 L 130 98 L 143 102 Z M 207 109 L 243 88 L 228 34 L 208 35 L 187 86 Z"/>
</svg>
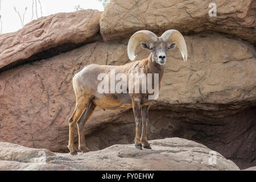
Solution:
<svg viewBox="0 0 256 182">
<path fill-rule="evenodd" d="M 147 141 L 147 125 L 148 125 L 148 110 L 149 105 L 144 106 L 141 109 L 141 115 L 142 115 L 142 134 L 141 134 L 141 141 L 143 143 L 144 148 L 151 149 L 150 143 Z"/>
</svg>

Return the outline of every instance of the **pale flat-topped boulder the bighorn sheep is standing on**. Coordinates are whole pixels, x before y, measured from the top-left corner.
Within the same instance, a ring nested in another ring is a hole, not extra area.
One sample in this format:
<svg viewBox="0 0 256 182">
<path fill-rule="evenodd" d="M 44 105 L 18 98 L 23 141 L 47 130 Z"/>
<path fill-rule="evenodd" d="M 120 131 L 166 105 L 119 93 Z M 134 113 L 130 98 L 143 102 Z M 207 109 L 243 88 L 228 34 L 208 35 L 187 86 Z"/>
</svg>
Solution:
<svg viewBox="0 0 256 182">
<path fill-rule="evenodd" d="M 26 148 L 26 158 L 30 159 L 27 162 L 19 154 L 24 147 L 0 143 L 0 170 L 240 170 L 218 152 L 190 140 L 166 138 L 150 143 L 152 150 L 116 144 L 77 156 L 60 153 L 34 156 L 34 149 Z M 17 154 L 16 159 L 11 158 L 13 154 Z"/>
</svg>

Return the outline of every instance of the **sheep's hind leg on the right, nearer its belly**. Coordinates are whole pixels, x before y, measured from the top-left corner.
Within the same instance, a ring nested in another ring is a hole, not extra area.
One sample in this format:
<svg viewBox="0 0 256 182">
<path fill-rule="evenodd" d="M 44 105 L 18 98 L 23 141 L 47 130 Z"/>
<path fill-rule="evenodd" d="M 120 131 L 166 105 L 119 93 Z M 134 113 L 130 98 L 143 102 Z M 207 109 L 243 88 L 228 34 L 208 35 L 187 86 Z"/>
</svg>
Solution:
<svg viewBox="0 0 256 182">
<path fill-rule="evenodd" d="M 90 151 L 89 148 L 85 145 L 85 123 L 93 114 L 93 111 L 96 108 L 96 105 L 93 104 L 92 99 L 93 97 L 90 98 L 89 104 L 84 109 L 82 115 L 77 121 L 77 129 L 79 133 L 79 150 L 82 151 L 82 153 Z"/>
</svg>

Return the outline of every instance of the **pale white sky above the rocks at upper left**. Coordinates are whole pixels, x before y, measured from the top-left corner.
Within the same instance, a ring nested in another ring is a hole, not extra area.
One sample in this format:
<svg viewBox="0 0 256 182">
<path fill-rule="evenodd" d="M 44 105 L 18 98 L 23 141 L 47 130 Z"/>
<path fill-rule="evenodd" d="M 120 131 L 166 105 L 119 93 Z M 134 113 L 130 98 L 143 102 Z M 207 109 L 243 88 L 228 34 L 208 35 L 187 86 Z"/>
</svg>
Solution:
<svg viewBox="0 0 256 182">
<path fill-rule="evenodd" d="M 1 0 L 0 0 L 1 1 Z M 38 18 L 41 17 L 40 5 L 38 0 Z M 96 9 L 103 11 L 104 7 L 98 0 L 40 0 L 42 5 L 43 16 L 48 16 L 60 12 L 72 12 L 76 11 L 75 6 L 80 5 L 82 9 Z M 20 16 L 23 16 L 24 10 L 27 7 L 26 14 L 24 15 L 24 24 L 29 23 L 32 19 L 32 0 L 2 0 L 1 1 L 1 20 L 2 20 L 2 34 L 8 32 L 15 32 L 22 28 L 19 15 L 15 12 L 19 11 Z M 35 15 L 35 3 L 34 3 L 34 18 Z M 1 28 L 1 27 L 0 27 Z"/>
</svg>

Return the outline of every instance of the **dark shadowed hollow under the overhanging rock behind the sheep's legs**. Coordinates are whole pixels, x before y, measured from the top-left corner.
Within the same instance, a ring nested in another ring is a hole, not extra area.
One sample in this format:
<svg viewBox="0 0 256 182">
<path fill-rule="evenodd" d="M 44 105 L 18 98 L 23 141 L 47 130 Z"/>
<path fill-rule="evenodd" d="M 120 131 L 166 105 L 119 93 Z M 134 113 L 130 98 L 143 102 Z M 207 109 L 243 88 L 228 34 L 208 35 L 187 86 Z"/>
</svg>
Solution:
<svg viewBox="0 0 256 182">
<path fill-rule="evenodd" d="M 206 117 L 198 111 L 152 109 L 147 136 L 148 140 L 172 137 L 193 140 L 245 169 L 256 165 L 255 113 L 254 106 L 224 118 Z M 85 135 L 86 146 L 96 151 L 114 144 L 134 143 L 133 117 L 133 111 L 129 110 L 115 121 L 97 126 L 93 133 Z M 75 141 L 78 146 L 77 136 Z"/>
</svg>

